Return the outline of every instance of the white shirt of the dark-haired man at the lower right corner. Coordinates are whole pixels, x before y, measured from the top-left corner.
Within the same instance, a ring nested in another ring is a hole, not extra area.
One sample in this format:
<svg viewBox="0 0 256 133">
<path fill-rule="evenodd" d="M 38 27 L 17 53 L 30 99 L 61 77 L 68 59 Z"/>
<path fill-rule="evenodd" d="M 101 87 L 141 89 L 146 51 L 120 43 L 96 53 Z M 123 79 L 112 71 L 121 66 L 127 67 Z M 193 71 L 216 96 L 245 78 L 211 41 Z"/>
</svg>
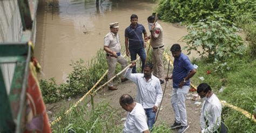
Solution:
<svg viewBox="0 0 256 133">
<path fill-rule="evenodd" d="M 201 132 L 214 132 L 218 130 L 221 122 L 221 109 L 220 100 L 215 94 L 212 94 L 209 99 L 204 101 L 200 116 Z"/>
</svg>

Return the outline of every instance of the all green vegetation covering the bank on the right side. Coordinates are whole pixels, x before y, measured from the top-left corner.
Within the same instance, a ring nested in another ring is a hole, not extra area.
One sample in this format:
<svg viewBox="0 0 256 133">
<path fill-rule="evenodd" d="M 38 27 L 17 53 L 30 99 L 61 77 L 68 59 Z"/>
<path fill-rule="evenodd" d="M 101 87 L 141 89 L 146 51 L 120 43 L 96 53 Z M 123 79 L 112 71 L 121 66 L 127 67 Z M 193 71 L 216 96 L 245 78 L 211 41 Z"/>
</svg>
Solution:
<svg viewBox="0 0 256 133">
<path fill-rule="evenodd" d="M 185 49 L 196 50 L 201 57 L 193 60 L 199 66 L 193 84 L 210 84 L 221 100 L 252 114 L 256 107 L 255 9 L 256 1 L 162 0 L 156 10 L 164 21 L 187 25 Z M 245 41 L 237 35 L 241 31 Z M 256 130 L 255 122 L 227 107 L 223 120 L 230 132 Z"/>
</svg>

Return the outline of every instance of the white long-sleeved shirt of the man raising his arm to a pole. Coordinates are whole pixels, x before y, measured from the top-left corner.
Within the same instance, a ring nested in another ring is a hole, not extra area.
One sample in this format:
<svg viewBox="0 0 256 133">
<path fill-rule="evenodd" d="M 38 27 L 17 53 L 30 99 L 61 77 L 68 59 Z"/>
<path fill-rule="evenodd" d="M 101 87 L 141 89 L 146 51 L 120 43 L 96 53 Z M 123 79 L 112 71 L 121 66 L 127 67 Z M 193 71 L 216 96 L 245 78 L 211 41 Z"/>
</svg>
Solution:
<svg viewBox="0 0 256 133">
<path fill-rule="evenodd" d="M 158 107 L 163 98 L 163 91 L 159 79 L 152 75 L 151 79 L 146 81 L 143 73 L 131 72 L 132 69 L 128 68 L 125 72 L 125 77 L 137 85 L 136 100 L 139 104 L 142 104 L 143 108 Z"/>
</svg>

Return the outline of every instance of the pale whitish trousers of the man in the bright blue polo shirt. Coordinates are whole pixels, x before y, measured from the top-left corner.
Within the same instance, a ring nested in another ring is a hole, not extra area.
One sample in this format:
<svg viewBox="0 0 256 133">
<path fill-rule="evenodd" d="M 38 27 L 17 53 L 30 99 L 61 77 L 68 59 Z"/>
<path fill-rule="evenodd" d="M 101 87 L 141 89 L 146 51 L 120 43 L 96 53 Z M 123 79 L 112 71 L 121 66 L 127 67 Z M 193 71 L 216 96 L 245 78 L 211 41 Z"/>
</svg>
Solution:
<svg viewBox="0 0 256 133">
<path fill-rule="evenodd" d="M 182 88 L 172 88 L 171 103 L 175 113 L 175 121 L 181 123 L 181 126 L 187 125 L 186 112 L 186 94 L 190 90 L 190 86 L 182 86 Z"/>
</svg>

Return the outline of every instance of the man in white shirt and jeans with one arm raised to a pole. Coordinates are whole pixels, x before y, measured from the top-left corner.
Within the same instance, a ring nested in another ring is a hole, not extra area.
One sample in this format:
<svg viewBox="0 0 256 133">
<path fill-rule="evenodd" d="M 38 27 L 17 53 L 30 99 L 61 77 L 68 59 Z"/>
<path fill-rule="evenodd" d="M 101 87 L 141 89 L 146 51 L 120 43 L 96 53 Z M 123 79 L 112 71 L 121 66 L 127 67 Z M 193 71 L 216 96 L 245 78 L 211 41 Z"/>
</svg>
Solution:
<svg viewBox="0 0 256 133">
<path fill-rule="evenodd" d="M 159 79 L 152 75 L 152 64 L 146 64 L 143 73 L 132 73 L 135 65 L 136 63 L 132 62 L 131 67 L 126 70 L 125 77 L 137 85 L 136 100 L 145 109 L 147 125 L 152 129 L 163 91 Z"/>
</svg>

